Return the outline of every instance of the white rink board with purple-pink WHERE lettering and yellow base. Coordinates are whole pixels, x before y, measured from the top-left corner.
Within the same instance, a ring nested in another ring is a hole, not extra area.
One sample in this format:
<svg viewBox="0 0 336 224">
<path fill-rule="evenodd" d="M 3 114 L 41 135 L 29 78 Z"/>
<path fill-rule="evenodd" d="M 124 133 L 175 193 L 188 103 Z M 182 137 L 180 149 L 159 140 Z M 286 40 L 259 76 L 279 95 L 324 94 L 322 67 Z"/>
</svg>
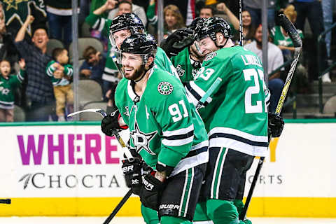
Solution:
<svg viewBox="0 0 336 224">
<path fill-rule="evenodd" d="M 0 198 L 12 199 L 0 216 L 107 216 L 127 193 L 118 141 L 99 123 L 13 123 L 0 126 L 0 138 Z M 335 218 L 335 140 L 336 120 L 286 120 L 248 216 Z M 140 216 L 139 207 L 131 197 L 118 216 Z"/>
</svg>

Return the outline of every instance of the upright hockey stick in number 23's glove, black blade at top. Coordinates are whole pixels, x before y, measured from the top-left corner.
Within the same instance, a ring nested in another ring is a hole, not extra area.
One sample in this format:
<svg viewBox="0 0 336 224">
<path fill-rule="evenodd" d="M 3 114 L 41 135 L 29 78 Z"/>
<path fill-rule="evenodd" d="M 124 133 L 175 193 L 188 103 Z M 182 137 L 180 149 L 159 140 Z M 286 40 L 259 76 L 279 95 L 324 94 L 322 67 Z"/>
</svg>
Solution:
<svg viewBox="0 0 336 224">
<path fill-rule="evenodd" d="M 290 22 L 290 20 L 288 20 L 286 15 L 279 14 L 278 17 L 279 17 L 279 23 L 280 23 L 281 27 L 283 27 L 283 29 L 290 36 L 290 39 L 293 41 L 293 45 L 294 45 L 295 50 L 294 50 L 293 62 L 292 62 L 292 64 L 290 64 L 290 69 L 289 69 L 288 74 L 287 74 L 286 82 L 285 82 L 285 85 L 283 86 L 281 96 L 279 98 L 279 102 L 276 106 L 276 110 L 275 110 L 276 115 L 279 115 L 281 113 L 281 109 L 283 107 L 283 103 L 285 102 L 286 95 L 287 95 L 287 92 L 288 92 L 288 89 L 289 89 L 290 81 L 293 78 L 293 73 L 295 71 L 297 60 L 300 57 L 300 52 L 301 52 L 301 48 L 302 48 L 302 40 L 301 40 L 300 35 L 298 34 L 297 30 L 295 29 L 294 25 Z M 245 205 L 244 205 L 244 209 L 243 209 L 243 211 L 241 211 L 241 214 L 239 216 L 240 220 L 246 219 L 246 212 L 247 212 L 248 206 L 251 202 L 252 195 L 253 195 L 253 190 L 255 188 L 255 184 L 257 183 L 258 176 L 260 174 L 260 170 L 262 168 L 264 160 L 265 160 L 265 157 L 261 157 L 259 162 L 258 162 L 258 167 L 255 170 L 255 174 L 253 176 L 253 181 L 251 183 L 251 188 L 250 188 L 250 190 L 248 190 L 248 195 L 246 197 L 246 202 L 245 202 Z"/>
</svg>

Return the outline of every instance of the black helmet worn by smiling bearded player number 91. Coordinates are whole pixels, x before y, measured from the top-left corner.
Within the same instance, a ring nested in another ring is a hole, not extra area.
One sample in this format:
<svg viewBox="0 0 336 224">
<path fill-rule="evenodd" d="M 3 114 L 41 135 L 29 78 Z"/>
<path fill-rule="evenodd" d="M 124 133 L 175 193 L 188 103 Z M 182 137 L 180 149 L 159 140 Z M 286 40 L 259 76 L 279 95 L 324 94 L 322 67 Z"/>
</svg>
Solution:
<svg viewBox="0 0 336 224">
<path fill-rule="evenodd" d="M 143 64 L 147 63 L 149 57 L 155 57 L 158 49 L 158 42 L 151 34 L 131 34 L 120 46 L 118 50 L 118 63 L 121 64 L 123 53 L 141 55 L 144 59 Z"/>
</svg>

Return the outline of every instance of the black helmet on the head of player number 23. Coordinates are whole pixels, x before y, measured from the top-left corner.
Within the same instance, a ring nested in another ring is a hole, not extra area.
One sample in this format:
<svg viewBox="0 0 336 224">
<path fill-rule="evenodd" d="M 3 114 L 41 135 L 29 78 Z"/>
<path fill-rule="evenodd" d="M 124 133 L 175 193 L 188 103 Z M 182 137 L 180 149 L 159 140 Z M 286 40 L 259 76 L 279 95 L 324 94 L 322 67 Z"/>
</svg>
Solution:
<svg viewBox="0 0 336 224">
<path fill-rule="evenodd" d="M 195 29 L 195 38 L 201 40 L 209 36 L 216 42 L 216 33 L 221 32 L 225 38 L 231 38 L 231 27 L 223 18 L 211 17 Z"/>
</svg>

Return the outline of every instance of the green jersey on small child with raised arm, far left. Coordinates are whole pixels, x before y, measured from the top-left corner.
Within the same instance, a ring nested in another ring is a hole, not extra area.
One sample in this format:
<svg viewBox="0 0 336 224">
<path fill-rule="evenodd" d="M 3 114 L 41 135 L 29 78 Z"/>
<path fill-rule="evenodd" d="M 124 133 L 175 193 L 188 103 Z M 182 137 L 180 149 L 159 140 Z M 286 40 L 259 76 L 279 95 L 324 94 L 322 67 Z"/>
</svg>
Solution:
<svg viewBox="0 0 336 224">
<path fill-rule="evenodd" d="M 25 78 L 25 71 L 20 69 L 18 75 L 10 75 L 3 78 L 0 74 L 0 108 L 13 109 L 14 108 L 14 90 L 20 87 L 20 84 Z"/>
</svg>

